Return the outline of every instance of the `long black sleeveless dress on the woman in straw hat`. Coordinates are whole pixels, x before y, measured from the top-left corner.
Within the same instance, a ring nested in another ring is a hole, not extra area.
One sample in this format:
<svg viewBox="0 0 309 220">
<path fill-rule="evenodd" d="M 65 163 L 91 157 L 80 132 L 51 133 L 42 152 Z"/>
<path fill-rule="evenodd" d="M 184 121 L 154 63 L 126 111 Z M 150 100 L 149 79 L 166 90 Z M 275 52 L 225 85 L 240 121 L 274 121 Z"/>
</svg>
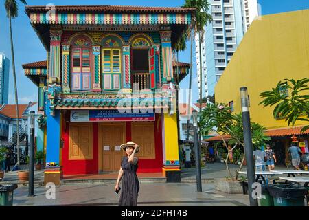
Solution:
<svg viewBox="0 0 309 220">
<path fill-rule="evenodd" d="M 133 164 L 128 162 L 128 157 L 122 158 L 122 192 L 119 199 L 119 206 L 137 206 L 137 196 L 139 193 L 139 179 L 137 178 L 137 157 Z"/>
</svg>

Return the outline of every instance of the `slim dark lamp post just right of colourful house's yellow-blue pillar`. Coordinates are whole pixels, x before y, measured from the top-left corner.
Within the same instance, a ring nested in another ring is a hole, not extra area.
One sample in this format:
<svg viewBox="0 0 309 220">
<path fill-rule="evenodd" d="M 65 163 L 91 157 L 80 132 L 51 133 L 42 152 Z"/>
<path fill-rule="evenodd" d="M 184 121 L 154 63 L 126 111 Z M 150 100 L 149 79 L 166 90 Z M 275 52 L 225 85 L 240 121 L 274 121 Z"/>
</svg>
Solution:
<svg viewBox="0 0 309 220">
<path fill-rule="evenodd" d="M 193 129 L 194 129 L 194 152 L 195 152 L 195 168 L 196 168 L 196 187 L 198 192 L 202 192 L 202 180 L 201 180 L 201 157 L 200 157 L 200 146 L 198 142 L 197 133 L 197 118 L 198 113 L 196 110 L 192 111 L 193 117 Z"/>
</svg>

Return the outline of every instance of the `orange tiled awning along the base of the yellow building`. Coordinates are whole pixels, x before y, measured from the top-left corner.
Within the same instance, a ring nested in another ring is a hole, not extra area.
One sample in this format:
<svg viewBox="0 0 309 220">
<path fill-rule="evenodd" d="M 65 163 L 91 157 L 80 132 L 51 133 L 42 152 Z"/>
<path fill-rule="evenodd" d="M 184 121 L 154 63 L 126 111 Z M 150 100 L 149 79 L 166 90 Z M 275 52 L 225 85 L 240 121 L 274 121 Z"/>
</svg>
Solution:
<svg viewBox="0 0 309 220">
<path fill-rule="evenodd" d="M 301 129 L 303 126 L 294 127 L 294 128 L 282 128 L 282 129 L 269 129 L 266 131 L 266 136 L 268 137 L 286 137 L 286 136 L 293 136 L 293 135 L 308 135 L 309 130 L 305 131 L 304 133 L 301 133 Z M 222 136 L 225 140 L 231 139 L 230 135 L 223 135 Z M 214 142 L 214 141 L 220 141 L 222 138 L 220 136 L 210 137 L 206 139 L 207 142 Z"/>
</svg>

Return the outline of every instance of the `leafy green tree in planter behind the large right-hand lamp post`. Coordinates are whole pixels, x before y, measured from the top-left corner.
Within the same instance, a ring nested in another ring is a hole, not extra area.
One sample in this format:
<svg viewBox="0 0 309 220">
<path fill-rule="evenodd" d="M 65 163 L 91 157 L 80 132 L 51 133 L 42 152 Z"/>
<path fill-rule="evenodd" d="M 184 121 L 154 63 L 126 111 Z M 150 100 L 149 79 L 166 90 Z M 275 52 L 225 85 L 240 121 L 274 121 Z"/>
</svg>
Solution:
<svg viewBox="0 0 309 220">
<path fill-rule="evenodd" d="M 208 135 L 209 132 L 215 132 L 218 134 L 222 143 L 227 149 L 227 155 L 225 155 L 225 165 L 229 177 L 233 179 L 233 175 L 229 170 L 228 159 L 229 154 L 237 147 L 241 146 L 243 149 L 242 162 L 238 170 L 236 170 L 236 180 L 238 179 L 238 173 L 242 169 L 244 162 L 244 131 L 242 128 L 242 115 L 241 113 L 232 114 L 231 108 L 228 104 L 216 103 L 207 104 L 205 109 L 201 111 L 201 118 L 198 126 L 200 127 L 202 135 Z M 259 147 L 264 145 L 266 141 L 270 140 L 265 135 L 265 127 L 251 122 L 251 134 L 253 146 Z M 224 135 L 229 135 L 229 141 L 225 140 Z M 230 146 L 230 147 L 229 147 Z M 239 152 L 238 152 L 239 153 Z"/>
</svg>

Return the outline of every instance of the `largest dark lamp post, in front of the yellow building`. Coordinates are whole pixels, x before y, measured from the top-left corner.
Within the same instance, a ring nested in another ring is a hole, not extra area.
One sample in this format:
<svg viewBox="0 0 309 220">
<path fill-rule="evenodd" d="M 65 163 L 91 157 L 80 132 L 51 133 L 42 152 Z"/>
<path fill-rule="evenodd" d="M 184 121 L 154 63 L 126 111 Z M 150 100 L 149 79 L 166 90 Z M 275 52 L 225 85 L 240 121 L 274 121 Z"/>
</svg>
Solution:
<svg viewBox="0 0 309 220">
<path fill-rule="evenodd" d="M 247 87 L 240 88 L 240 98 L 242 105 L 242 127 L 244 129 L 244 153 L 247 161 L 247 177 L 250 206 L 258 206 L 258 200 L 253 199 L 253 183 L 255 183 L 255 171 L 253 164 L 252 137 L 249 113 L 249 98 Z"/>
</svg>

